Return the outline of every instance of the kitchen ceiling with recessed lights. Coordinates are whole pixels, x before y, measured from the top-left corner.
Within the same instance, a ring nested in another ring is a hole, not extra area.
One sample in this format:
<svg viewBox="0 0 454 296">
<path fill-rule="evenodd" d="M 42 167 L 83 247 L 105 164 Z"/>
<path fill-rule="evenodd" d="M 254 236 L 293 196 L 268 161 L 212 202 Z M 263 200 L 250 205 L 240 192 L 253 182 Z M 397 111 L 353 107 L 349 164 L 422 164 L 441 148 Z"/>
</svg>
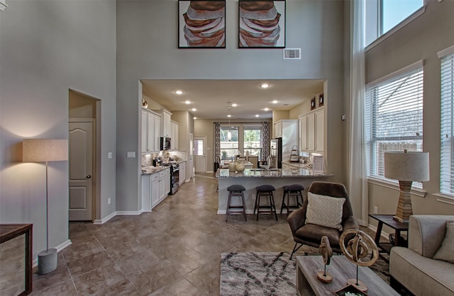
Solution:
<svg viewBox="0 0 454 296">
<path fill-rule="evenodd" d="M 189 110 L 199 119 L 272 118 L 272 110 L 290 110 L 323 91 L 324 80 L 142 80 L 143 94 L 168 110 Z M 269 84 L 266 89 L 262 84 Z M 183 91 L 181 95 L 175 91 Z M 187 104 L 185 101 L 190 101 Z M 272 103 L 277 101 L 277 103 Z M 196 108 L 192 111 L 192 108 Z M 269 108 L 270 110 L 264 110 Z"/>
</svg>

